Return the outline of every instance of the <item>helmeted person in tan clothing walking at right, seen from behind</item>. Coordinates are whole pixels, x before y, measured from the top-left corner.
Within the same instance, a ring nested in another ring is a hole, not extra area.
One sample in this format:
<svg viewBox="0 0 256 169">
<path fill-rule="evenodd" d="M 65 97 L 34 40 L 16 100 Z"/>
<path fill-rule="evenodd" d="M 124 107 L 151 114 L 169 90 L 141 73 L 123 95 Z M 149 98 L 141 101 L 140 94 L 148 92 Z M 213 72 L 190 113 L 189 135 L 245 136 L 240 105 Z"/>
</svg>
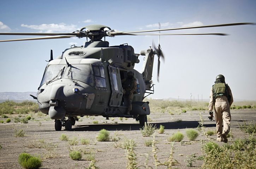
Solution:
<svg viewBox="0 0 256 169">
<path fill-rule="evenodd" d="M 217 141 L 227 143 L 227 134 L 230 131 L 230 106 L 233 96 L 230 87 L 225 83 L 223 75 L 216 76 L 215 84 L 210 91 L 209 119 L 213 119 L 213 106 L 216 117 Z M 222 130 L 223 122 L 223 130 Z"/>
</svg>

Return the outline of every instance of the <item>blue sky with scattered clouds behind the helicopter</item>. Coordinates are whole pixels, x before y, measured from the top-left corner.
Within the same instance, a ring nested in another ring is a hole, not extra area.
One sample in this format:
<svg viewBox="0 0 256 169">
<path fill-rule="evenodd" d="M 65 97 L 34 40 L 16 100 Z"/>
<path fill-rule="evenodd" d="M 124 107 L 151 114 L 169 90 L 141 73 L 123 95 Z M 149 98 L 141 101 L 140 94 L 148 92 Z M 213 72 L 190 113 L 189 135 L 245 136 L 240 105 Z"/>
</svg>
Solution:
<svg viewBox="0 0 256 169">
<path fill-rule="evenodd" d="M 73 32 L 90 24 L 118 31 L 224 23 L 256 23 L 254 0 L 112 0 L 0 1 L 0 32 Z M 229 36 L 161 36 L 165 54 L 157 82 L 155 56 L 151 98 L 208 99 L 215 77 L 222 74 L 235 99 L 256 100 L 256 25 L 213 27 L 162 33 L 227 33 Z M 30 36 L 35 37 L 35 36 Z M 30 38 L 29 37 L 29 38 Z M 28 36 L 0 36 L 0 40 Z M 136 53 L 158 43 L 157 36 L 106 37 L 110 45 L 128 43 Z M 45 60 L 86 38 L 0 43 L 0 92 L 36 92 Z M 135 67 L 141 71 L 143 56 Z"/>
</svg>

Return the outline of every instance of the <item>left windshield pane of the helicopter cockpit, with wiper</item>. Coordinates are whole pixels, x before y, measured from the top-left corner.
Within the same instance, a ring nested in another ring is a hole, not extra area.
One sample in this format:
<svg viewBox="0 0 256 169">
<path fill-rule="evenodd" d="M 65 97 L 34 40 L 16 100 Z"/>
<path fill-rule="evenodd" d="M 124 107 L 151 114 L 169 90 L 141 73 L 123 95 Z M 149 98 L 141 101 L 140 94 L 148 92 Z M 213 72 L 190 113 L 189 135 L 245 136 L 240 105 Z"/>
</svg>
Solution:
<svg viewBox="0 0 256 169">
<path fill-rule="evenodd" d="M 43 75 L 43 79 L 41 81 L 40 87 L 45 82 L 48 82 L 48 81 L 53 80 L 53 79 L 60 79 L 62 74 L 64 73 L 65 67 L 66 67 L 66 65 L 63 65 L 63 64 L 49 65 L 46 68 L 46 71 Z"/>
</svg>

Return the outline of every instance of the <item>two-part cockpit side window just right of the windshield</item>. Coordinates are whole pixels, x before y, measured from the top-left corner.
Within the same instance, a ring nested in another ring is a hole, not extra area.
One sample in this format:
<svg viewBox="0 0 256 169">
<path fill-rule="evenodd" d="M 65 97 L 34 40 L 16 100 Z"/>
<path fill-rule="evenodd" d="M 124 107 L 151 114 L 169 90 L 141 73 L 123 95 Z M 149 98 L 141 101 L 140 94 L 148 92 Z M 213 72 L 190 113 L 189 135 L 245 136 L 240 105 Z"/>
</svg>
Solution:
<svg viewBox="0 0 256 169">
<path fill-rule="evenodd" d="M 105 88 L 106 80 L 103 66 L 93 66 L 93 75 L 95 80 L 95 86 Z"/>
</svg>

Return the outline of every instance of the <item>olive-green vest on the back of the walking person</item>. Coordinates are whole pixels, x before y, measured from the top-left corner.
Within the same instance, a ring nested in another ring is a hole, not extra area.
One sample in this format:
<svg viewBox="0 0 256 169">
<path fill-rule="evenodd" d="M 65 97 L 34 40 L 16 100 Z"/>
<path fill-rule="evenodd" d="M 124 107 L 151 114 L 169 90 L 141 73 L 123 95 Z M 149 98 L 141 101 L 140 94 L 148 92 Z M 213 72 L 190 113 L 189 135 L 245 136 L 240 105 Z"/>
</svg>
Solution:
<svg viewBox="0 0 256 169">
<path fill-rule="evenodd" d="M 213 85 L 213 98 L 216 99 L 218 96 L 226 96 L 228 99 L 230 98 L 228 85 L 226 83 L 218 82 Z"/>
</svg>

